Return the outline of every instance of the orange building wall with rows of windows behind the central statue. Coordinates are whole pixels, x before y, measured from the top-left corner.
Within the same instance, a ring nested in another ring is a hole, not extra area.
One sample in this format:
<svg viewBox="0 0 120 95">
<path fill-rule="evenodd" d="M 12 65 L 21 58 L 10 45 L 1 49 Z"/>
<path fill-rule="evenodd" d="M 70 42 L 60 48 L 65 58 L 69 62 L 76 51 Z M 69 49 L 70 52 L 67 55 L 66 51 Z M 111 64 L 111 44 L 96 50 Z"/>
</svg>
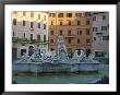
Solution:
<svg viewBox="0 0 120 95">
<path fill-rule="evenodd" d="M 92 16 L 89 12 L 50 12 L 49 49 L 57 50 L 57 35 L 63 36 L 70 52 L 76 49 L 91 51 Z"/>
</svg>

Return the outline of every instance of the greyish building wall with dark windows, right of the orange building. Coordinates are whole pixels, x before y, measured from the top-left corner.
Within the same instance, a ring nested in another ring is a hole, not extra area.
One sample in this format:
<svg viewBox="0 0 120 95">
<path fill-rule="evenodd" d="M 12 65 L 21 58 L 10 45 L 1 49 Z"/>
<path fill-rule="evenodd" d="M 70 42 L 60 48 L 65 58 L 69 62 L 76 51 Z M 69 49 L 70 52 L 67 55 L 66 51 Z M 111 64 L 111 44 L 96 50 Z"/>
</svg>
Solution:
<svg viewBox="0 0 120 95">
<path fill-rule="evenodd" d="M 109 54 L 109 12 L 93 13 L 93 50 Z"/>
</svg>

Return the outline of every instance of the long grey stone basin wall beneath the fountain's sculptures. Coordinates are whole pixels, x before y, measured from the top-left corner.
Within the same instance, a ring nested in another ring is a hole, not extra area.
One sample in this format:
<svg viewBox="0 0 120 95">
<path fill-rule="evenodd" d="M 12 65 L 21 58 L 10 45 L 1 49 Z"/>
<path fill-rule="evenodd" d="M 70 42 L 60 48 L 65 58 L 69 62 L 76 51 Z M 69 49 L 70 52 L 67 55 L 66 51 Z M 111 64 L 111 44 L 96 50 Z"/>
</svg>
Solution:
<svg viewBox="0 0 120 95">
<path fill-rule="evenodd" d="M 14 62 L 13 71 L 17 72 L 81 72 L 98 71 L 99 62 L 77 63 L 43 63 L 43 62 Z"/>
</svg>

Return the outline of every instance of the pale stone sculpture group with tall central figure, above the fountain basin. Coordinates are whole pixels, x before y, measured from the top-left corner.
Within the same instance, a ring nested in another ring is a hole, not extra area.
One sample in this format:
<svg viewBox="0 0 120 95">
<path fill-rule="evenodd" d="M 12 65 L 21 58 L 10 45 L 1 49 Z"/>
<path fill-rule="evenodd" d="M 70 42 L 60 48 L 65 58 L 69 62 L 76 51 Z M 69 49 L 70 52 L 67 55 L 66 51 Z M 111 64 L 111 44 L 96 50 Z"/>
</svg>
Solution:
<svg viewBox="0 0 120 95">
<path fill-rule="evenodd" d="M 58 36 L 58 52 L 55 50 L 46 50 L 43 49 L 43 51 L 39 54 L 39 48 L 35 48 L 32 56 L 27 56 L 25 52 L 22 57 L 20 57 L 21 62 L 39 62 L 39 63 L 70 63 L 70 60 L 75 62 L 84 62 L 84 61 L 91 61 L 93 60 L 93 55 L 89 55 L 88 57 L 85 56 L 84 50 L 81 50 L 81 54 L 77 54 L 79 50 L 75 50 L 73 54 L 73 58 L 70 59 L 68 57 L 67 47 L 64 45 L 63 36 Z"/>
</svg>

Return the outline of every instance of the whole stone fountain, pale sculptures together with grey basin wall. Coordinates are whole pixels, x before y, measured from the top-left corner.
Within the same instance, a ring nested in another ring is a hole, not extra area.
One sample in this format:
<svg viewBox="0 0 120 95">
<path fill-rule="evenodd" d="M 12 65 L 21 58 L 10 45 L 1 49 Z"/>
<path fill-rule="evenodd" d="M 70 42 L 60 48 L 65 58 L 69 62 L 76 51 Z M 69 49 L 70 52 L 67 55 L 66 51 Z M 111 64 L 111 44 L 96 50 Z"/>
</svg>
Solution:
<svg viewBox="0 0 120 95">
<path fill-rule="evenodd" d="M 35 48 L 32 56 L 24 54 L 20 60 L 13 62 L 14 71 L 28 72 L 75 72 L 75 71 L 98 71 L 99 62 L 93 60 L 93 55 L 88 57 L 81 50 L 74 51 L 73 58 L 67 55 L 67 48 L 62 36 L 58 36 L 58 52 L 47 50 L 39 55 L 39 49 Z"/>
</svg>

